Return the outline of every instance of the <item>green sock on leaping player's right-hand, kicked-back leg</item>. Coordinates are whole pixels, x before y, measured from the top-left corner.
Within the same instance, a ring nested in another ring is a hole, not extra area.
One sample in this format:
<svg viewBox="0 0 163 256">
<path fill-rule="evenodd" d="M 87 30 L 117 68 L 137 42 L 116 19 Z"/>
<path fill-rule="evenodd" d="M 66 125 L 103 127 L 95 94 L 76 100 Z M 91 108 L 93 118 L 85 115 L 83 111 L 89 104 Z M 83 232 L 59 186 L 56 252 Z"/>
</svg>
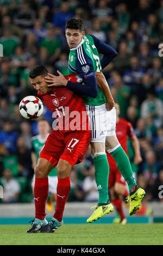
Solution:
<svg viewBox="0 0 163 256">
<path fill-rule="evenodd" d="M 131 169 L 130 161 L 127 154 L 124 152 L 121 146 L 118 147 L 116 150 L 112 151 L 110 154 L 116 161 L 117 168 L 120 170 L 123 178 L 127 181 L 129 192 L 131 193 L 131 188 L 136 186 L 136 181 L 133 176 L 133 170 Z"/>
</svg>

